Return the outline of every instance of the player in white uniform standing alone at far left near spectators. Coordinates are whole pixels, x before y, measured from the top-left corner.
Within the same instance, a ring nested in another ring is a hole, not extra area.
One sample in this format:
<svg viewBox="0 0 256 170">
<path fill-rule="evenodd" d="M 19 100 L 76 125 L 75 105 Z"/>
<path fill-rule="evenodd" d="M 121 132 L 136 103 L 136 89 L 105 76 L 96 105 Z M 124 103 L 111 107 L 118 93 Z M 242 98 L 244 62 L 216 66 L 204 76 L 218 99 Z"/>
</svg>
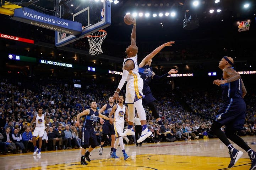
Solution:
<svg viewBox="0 0 256 170">
<path fill-rule="evenodd" d="M 43 114 L 43 109 L 39 108 L 38 109 L 38 114 L 35 115 L 30 123 L 31 125 L 31 129 L 32 129 L 32 125 L 34 123 L 34 121 L 36 121 L 36 127 L 34 129 L 33 132 L 33 145 L 34 145 L 34 153 L 33 155 L 41 155 L 41 147 L 42 147 L 42 137 L 44 136 L 44 130 L 45 130 L 45 123 L 47 123 L 47 128 L 49 128 L 49 121 L 46 117 L 46 115 Z M 39 148 L 37 148 L 37 141 L 36 138 L 37 136 L 39 136 L 38 139 L 38 144 L 39 144 Z"/>
</svg>

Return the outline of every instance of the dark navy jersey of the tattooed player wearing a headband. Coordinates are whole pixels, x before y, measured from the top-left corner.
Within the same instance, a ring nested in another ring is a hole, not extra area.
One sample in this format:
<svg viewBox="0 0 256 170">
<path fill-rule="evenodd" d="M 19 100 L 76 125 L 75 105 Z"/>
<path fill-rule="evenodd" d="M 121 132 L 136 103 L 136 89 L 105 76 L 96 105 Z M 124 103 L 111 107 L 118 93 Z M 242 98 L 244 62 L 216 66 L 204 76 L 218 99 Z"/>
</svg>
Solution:
<svg viewBox="0 0 256 170">
<path fill-rule="evenodd" d="M 234 69 L 234 67 L 231 67 Z M 223 74 L 222 74 L 222 78 L 223 79 Z M 224 101 L 229 100 L 230 98 L 243 98 L 243 92 L 242 92 L 242 82 L 241 82 L 241 78 L 236 80 L 236 81 L 232 81 L 226 84 L 222 84 L 221 88 L 222 88 L 222 99 Z"/>
</svg>

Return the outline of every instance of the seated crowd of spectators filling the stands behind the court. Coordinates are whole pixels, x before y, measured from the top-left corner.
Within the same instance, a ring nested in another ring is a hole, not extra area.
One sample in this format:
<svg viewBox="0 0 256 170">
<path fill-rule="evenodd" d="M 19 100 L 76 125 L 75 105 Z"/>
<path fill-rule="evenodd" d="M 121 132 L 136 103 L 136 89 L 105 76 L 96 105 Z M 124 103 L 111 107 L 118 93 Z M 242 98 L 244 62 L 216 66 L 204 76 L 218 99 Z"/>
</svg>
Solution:
<svg viewBox="0 0 256 170">
<path fill-rule="evenodd" d="M 51 82 L 51 83 L 49 83 Z M 32 129 L 30 123 L 39 108 L 50 121 L 50 128 L 45 129 L 42 151 L 56 149 L 81 148 L 82 118 L 79 127 L 75 126 L 76 115 L 89 108 L 92 101 L 100 109 L 113 94 L 114 88 L 100 83 L 88 83 L 86 88 L 74 88 L 64 85 L 60 80 L 36 83 L 24 86 L 25 83 L 10 83 L 8 79 L 0 82 L 0 153 L 33 152 Z M 31 89 L 29 89 L 31 87 Z M 211 124 L 214 114 L 221 103 L 221 92 L 211 89 L 176 88 L 163 90 L 154 88 L 157 99 L 157 110 L 166 129 L 171 133 L 160 131 L 151 111 L 146 107 L 148 128 L 154 132 L 153 138 L 145 142 L 175 142 L 179 140 L 197 140 L 214 138 Z M 122 91 L 121 94 L 124 94 Z M 245 98 L 247 104 L 246 122 L 240 136 L 256 134 L 255 95 Z M 225 131 L 225 127 L 223 127 Z M 96 123 L 95 132 L 98 144 L 102 135 L 102 125 Z M 125 138 L 126 144 L 133 144 L 135 136 Z M 105 141 L 110 145 L 111 137 Z"/>
</svg>

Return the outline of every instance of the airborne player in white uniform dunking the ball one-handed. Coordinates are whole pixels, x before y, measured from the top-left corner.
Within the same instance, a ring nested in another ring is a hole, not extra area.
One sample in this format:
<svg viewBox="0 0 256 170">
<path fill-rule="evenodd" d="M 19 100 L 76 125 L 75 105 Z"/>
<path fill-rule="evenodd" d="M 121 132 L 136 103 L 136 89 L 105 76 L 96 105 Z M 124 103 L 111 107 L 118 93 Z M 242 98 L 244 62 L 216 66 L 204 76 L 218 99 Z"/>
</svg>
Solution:
<svg viewBox="0 0 256 170">
<path fill-rule="evenodd" d="M 127 47 L 125 53 L 127 57 L 123 62 L 123 74 L 122 78 L 119 82 L 118 88 L 116 89 L 113 98 L 114 100 L 119 100 L 119 92 L 124 86 L 125 81 L 126 84 L 126 93 L 125 93 L 125 103 L 128 105 L 128 128 L 124 131 L 124 133 L 120 134 L 120 136 L 126 135 L 135 135 L 133 127 L 133 121 L 135 117 L 135 109 L 137 110 L 137 114 L 139 115 L 141 125 L 142 125 L 142 133 L 141 137 L 137 140 L 138 143 L 144 141 L 147 137 L 152 135 L 152 132 L 147 128 L 147 120 L 146 120 L 146 112 L 142 105 L 142 98 L 144 97 L 142 93 L 143 88 L 143 80 L 138 74 L 138 64 L 137 64 L 137 52 L 138 47 L 136 46 L 136 19 L 130 20 L 132 22 L 132 32 L 131 32 L 131 45 Z"/>
</svg>

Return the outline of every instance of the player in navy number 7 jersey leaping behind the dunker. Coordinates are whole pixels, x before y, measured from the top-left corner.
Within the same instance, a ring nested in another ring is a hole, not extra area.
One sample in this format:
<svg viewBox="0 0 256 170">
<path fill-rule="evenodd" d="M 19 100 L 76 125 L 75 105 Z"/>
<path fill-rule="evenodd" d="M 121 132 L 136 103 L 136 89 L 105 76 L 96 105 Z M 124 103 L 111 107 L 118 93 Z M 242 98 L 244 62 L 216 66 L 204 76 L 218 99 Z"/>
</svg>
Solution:
<svg viewBox="0 0 256 170">
<path fill-rule="evenodd" d="M 154 102 L 156 99 L 153 97 L 152 92 L 148 85 L 151 79 L 159 81 L 163 78 L 166 78 L 169 74 L 178 73 L 178 70 L 171 69 L 169 72 L 165 73 L 164 75 L 159 76 L 153 72 L 151 63 L 152 63 L 152 58 L 159 51 L 161 51 L 165 46 L 172 46 L 171 44 L 174 44 L 174 43 L 175 43 L 174 41 L 170 41 L 160 45 L 154 51 L 152 51 L 149 55 L 143 58 L 143 60 L 139 64 L 139 74 L 141 75 L 141 78 L 143 80 L 142 92 L 145 95 L 145 98 L 142 99 L 142 102 L 144 105 L 148 106 L 149 109 L 152 111 L 153 117 L 156 119 L 157 123 L 160 125 L 161 133 L 170 133 L 170 130 L 166 130 L 163 126 L 162 120 L 156 109 L 156 103 Z"/>
</svg>

